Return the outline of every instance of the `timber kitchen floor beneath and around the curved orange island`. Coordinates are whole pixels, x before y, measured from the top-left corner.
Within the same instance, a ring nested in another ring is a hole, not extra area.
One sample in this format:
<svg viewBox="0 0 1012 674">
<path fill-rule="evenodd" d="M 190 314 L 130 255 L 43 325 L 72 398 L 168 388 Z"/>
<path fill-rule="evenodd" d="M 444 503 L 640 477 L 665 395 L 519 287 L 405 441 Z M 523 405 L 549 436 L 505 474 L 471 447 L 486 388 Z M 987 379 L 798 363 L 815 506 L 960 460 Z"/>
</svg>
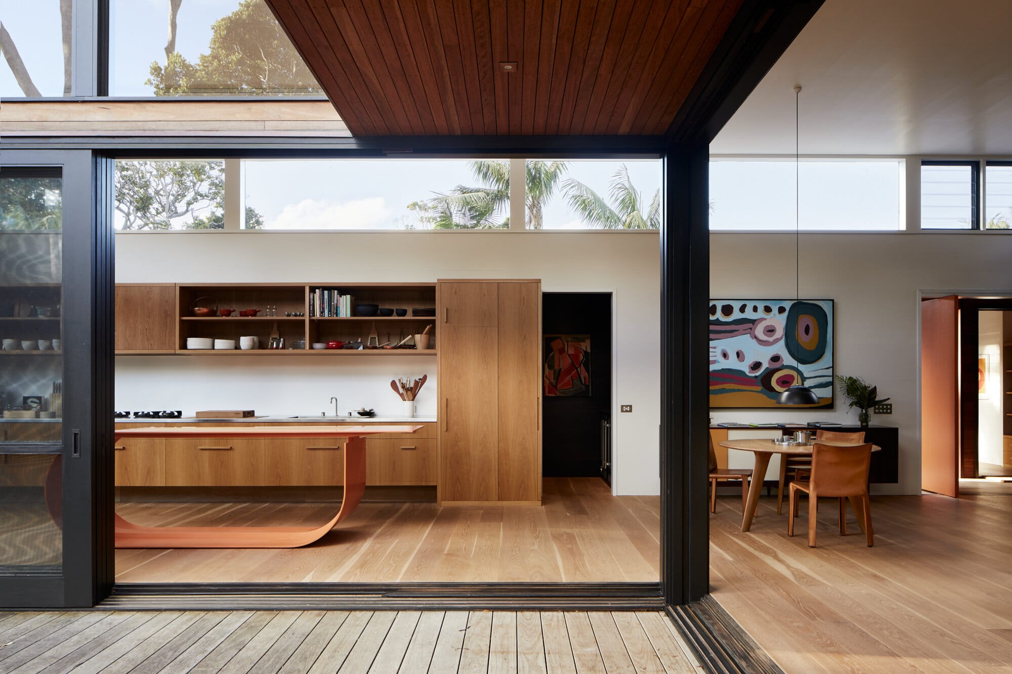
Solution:
<svg viewBox="0 0 1012 674">
<path fill-rule="evenodd" d="M 118 503 L 143 526 L 313 525 L 333 503 Z M 117 550 L 117 583 L 657 582 L 660 498 L 544 479 L 541 507 L 362 503 L 291 550 Z"/>
</svg>

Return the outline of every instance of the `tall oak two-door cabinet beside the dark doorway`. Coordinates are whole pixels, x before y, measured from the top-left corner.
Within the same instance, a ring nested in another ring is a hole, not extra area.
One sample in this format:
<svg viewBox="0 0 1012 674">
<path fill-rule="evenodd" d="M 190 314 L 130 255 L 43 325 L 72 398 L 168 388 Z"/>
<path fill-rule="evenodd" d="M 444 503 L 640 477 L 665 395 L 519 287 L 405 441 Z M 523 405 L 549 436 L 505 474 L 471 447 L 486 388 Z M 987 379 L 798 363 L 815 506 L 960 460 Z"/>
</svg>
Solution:
<svg viewBox="0 0 1012 674">
<path fill-rule="evenodd" d="M 439 501 L 541 500 L 539 280 L 440 280 Z"/>
</svg>

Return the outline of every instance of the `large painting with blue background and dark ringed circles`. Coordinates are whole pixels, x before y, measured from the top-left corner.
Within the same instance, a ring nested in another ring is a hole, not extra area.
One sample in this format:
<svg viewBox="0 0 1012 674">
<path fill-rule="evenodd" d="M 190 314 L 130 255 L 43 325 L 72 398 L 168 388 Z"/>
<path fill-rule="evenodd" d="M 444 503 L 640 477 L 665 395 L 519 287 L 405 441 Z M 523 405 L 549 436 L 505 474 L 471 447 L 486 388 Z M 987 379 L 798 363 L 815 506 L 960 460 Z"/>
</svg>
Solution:
<svg viewBox="0 0 1012 674">
<path fill-rule="evenodd" d="M 802 384 L 818 405 L 777 405 Z M 710 300 L 710 408 L 833 408 L 832 300 Z"/>
</svg>

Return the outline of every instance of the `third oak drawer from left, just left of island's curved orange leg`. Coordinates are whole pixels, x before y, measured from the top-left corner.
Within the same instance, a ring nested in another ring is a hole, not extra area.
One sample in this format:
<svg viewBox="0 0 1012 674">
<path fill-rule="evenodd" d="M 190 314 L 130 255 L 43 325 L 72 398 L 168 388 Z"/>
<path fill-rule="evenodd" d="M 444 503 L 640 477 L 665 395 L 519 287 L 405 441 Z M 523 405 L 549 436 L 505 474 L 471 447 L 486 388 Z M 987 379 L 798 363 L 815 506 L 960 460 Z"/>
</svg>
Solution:
<svg viewBox="0 0 1012 674">
<path fill-rule="evenodd" d="M 344 438 L 267 440 L 262 481 L 267 487 L 329 487 L 344 484 Z"/>
</svg>

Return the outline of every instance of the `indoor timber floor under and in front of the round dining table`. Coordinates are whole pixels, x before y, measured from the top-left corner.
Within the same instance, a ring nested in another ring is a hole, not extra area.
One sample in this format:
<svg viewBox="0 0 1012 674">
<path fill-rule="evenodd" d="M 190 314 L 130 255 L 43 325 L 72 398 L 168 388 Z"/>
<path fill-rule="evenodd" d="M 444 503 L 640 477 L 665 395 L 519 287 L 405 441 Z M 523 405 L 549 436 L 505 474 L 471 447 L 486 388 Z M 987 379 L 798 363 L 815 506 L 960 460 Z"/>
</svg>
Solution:
<svg viewBox="0 0 1012 674">
<path fill-rule="evenodd" d="M 786 672 L 1012 671 L 1012 496 L 872 497 L 874 546 L 848 508 L 786 514 L 759 503 L 742 533 L 741 501 L 710 516 L 710 588 Z M 786 513 L 786 507 L 784 507 Z"/>
</svg>

